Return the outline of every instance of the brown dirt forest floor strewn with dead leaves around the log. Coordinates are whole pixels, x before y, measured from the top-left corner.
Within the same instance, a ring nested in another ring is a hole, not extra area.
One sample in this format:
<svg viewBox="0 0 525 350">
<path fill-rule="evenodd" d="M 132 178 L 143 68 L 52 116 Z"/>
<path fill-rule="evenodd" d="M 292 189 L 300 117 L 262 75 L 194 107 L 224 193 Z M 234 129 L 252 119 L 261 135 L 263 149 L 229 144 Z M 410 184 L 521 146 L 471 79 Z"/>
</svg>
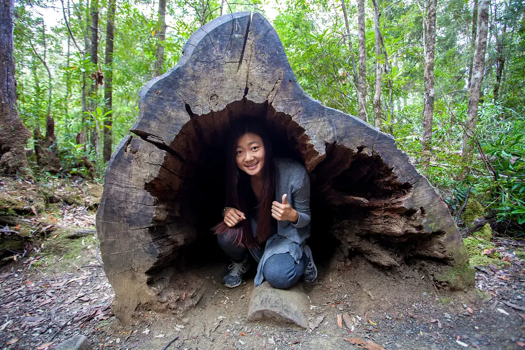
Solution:
<svg viewBox="0 0 525 350">
<path fill-rule="evenodd" d="M 493 240 L 507 265 L 478 268 L 476 288 L 467 292 L 438 290 L 418 264 L 385 272 L 363 257 L 335 254 L 318 266 L 319 280 L 305 286 L 309 330 L 248 322 L 253 271 L 245 284 L 228 289 L 220 283 L 223 262 L 195 267 L 205 292 L 193 309 L 144 312 L 124 326 L 111 313 L 114 293 L 96 234 L 86 230 L 94 229 L 101 190 L 80 180 L 57 180 L 44 192 L 23 181 L 0 181 L 0 222 L 8 225 L 0 267 L 3 348 L 53 349 L 77 334 L 98 349 L 160 350 L 175 337 L 168 349 L 525 346 L 525 261 L 519 259 L 525 247 L 510 239 Z M 23 247 L 6 248 L 15 236 L 24 237 Z M 340 314 L 348 315 L 341 327 Z"/>
</svg>

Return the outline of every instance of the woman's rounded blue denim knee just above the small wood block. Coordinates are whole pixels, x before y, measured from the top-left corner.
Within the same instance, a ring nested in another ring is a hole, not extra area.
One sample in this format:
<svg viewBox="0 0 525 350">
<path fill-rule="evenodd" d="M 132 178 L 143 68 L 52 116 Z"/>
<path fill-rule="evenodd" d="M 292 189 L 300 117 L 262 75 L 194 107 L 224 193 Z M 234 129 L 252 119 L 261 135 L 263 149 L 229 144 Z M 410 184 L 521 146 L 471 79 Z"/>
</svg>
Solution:
<svg viewBox="0 0 525 350">
<path fill-rule="evenodd" d="M 286 289 L 292 287 L 301 277 L 297 273 L 298 266 L 289 253 L 275 254 L 266 260 L 262 274 L 271 287 Z"/>
</svg>

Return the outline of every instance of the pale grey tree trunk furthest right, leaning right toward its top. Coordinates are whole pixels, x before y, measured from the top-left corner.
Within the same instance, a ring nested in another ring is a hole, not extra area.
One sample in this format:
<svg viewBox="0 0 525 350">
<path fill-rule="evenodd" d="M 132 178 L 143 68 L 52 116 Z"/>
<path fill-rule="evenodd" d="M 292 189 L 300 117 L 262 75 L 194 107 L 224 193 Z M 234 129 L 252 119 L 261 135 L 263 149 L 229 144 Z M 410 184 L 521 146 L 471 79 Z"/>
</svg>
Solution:
<svg viewBox="0 0 525 350">
<path fill-rule="evenodd" d="M 472 144 L 469 144 L 468 141 L 474 135 L 478 118 L 478 104 L 485 68 L 485 51 L 487 49 L 488 7 L 488 0 L 478 1 L 478 29 L 476 47 L 474 49 L 474 62 L 472 64 L 472 79 L 468 91 L 466 131 L 463 137 L 464 157 L 468 156 L 469 150 L 472 149 Z"/>
</svg>

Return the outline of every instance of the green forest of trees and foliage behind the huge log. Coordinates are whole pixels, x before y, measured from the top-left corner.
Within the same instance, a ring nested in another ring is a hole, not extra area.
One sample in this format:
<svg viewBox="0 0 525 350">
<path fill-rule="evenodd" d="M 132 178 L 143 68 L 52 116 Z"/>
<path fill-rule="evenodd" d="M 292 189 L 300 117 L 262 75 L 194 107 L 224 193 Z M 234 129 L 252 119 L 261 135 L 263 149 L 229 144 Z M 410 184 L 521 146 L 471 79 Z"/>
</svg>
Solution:
<svg viewBox="0 0 525 350">
<path fill-rule="evenodd" d="M 38 181 L 101 179 L 143 84 L 176 64 L 197 28 L 256 10 L 302 88 L 392 134 L 458 224 L 470 224 L 460 211 L 475 198 L 493 229 L 523 236 L 522 1 L 23 0 L 13 10 L 17 111 Z"/>
</svg>

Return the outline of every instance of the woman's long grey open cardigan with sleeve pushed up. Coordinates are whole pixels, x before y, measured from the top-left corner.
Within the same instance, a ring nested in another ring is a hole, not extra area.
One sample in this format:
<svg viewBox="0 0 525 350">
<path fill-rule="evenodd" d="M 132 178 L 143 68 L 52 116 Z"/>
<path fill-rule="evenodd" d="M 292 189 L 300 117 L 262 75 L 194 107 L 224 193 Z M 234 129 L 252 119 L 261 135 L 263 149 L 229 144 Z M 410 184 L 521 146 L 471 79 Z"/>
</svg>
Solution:
<svg viewBox="0 0 525 350">
<path fill-rule="evenodd" d="M 286 158 L 275 158 L 276 188 L 275 198 L 281 201 L 286 193 L 286 199 L 293 209 L 299 213 L 297 224 L 277 221 L 277 234 L 266 241 L 264 253 L 257 267 L 255 286 L 262 283 L 262 267 L 266 260 L 274 254 L 290 253 L 299 263 L 302 257 L 304 241 L 310 236 L 310 178 L 308 172 L 300 163 Z M 257 222 L 251 220 L 253 232 L 257 232 Z"/>
</svg>

